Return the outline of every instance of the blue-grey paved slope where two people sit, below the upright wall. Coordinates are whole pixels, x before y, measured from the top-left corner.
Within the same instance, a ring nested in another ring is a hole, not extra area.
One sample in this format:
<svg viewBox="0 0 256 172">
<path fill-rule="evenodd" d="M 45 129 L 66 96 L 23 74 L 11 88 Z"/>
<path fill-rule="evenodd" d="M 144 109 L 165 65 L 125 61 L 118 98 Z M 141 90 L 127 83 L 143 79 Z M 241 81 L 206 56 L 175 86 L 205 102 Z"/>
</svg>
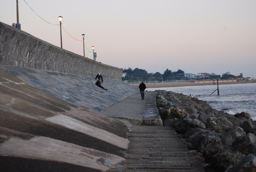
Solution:
<svg viewBox="0 0 256 172">
<path fill-rule="evenodd" d="M 82 108 L 100 112 L 108 106 L 139 92 L 121 80 L 104 79 L 104 88 L 95 85 L 95 78 L 59 72 L 33 70 L 0 65 L 0 70 L 21 78 L 36 88 Z M 104 76 L 104 74 L 103 74 Z"/>
</svg>

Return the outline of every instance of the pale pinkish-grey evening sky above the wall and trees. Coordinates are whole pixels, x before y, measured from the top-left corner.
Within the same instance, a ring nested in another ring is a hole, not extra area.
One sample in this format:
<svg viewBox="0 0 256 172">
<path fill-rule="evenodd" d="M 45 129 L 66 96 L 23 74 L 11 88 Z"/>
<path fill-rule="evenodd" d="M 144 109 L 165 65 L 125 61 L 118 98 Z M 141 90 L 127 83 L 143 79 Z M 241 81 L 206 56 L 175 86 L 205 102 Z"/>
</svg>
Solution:
<svg viewBox="0 0 256 172">
<path fill-rule="evenodd" d="M 103 64 L 256 77 L 256 0 L 18 1 L 21 30 L 60 46 L 62 16 Z M 17 22 L 16 0 L 0 0 L 0 22 Z M 83 56 L 83 43 L 68 34 L 62 29 L 63 48 Z"/>
</svg>

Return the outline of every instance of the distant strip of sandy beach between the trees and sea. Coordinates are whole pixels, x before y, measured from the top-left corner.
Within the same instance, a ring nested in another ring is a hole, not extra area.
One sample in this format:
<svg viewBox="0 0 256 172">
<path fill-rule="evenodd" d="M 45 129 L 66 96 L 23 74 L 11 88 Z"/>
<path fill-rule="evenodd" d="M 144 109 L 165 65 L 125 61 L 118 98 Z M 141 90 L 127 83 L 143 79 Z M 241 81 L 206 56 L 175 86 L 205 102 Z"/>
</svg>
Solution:
<svg viewBox="0 0 256 172">
<path fill-rule="evenodd" d="M 252 81 L 219 81 L 219 85 L 226 85 L 226 84 L 250 84 L 255 83 L 254 80 Z M 152 83 L 145 83 L 147 88 L 165 88 L 165 87 L 181 87 L 181 86 L 206 86 L 206 85 L 217 85 L 217 82 L 212 81 L 196 81 L 196 82 L 152 82 Z M 140 83 L 130 84 L 136 88 L 139 88 Z"/>
</svg>

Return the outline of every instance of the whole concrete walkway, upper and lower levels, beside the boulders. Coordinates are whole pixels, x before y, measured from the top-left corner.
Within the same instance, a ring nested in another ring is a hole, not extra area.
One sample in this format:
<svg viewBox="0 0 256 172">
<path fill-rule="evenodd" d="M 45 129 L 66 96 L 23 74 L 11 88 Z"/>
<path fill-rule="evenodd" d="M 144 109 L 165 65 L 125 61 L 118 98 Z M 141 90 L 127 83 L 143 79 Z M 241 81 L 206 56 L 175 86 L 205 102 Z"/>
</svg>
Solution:
<svg viewBox="0 0 256 172">
<path fill-rule="evenodd" d="M 155 97 L 156 92 L 145 92 L 142 100 L 138 93 L 100 112 L 132 122 L 122 120 L 130 128 L 126 160 L 109 172 L 204 172 L 176 132 L 161 126 Z"/>
</svg>

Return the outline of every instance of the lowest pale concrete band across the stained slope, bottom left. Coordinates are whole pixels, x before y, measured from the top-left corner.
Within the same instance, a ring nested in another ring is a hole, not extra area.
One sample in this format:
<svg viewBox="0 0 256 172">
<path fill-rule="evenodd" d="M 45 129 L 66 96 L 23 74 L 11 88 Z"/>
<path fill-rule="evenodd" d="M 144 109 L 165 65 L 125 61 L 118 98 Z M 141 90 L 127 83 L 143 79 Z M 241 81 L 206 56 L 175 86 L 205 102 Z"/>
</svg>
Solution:
<svg viewBox="0 0 256 172">
<path fill-rule="evenodd" d="M 104 164 L 98 164 L 97 160 L 99 158 L 109 158 L 113 164 L 118 164 L 125 160 L 120 156 L 106 152 L 40 136 L 35 136 L 30 140 L 10 138 L 10 140 L 0 145 L 0 154 L 4 156 L 52 160 L 102 171 L 108 170 L 109 167 Z"/>
</svg>

